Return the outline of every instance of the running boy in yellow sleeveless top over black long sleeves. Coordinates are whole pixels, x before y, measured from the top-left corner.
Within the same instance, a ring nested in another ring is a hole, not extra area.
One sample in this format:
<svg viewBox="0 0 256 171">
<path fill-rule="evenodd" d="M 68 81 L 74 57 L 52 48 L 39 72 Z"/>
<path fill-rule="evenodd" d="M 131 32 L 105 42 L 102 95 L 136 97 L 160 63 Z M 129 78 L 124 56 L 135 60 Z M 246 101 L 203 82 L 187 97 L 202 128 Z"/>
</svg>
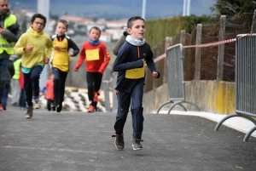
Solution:
<svg viewBox="0 0 256 171">
<path fill-rule="evenodd" d="M 52 36 L 54 53 L 52 54 L 52 72 L 54 74 L 54 106 L 57 112 L 62 110 L 65 94 L 65 83 L 69 71 L 69 57 L 79 54 L 79 48 L 65 32 L 68 29 L 67 20 L 59 20 L 56 26 L 57 34 Z M 73 51 L 70 51 L 73 48 Z"/>
</svg>

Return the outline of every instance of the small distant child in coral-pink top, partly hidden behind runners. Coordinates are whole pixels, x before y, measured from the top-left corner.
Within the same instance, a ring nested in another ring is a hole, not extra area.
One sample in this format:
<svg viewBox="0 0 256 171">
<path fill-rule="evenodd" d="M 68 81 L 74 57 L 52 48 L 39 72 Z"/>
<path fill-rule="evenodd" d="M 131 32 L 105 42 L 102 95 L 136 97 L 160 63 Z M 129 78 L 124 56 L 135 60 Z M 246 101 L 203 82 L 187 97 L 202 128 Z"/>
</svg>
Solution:
<svg viewBox="0 0 256 171">
<path fill-rule="evenodd" d="M 41 93 L 44 93 L 46 90 L 46 100 L 47 100 L 47 109 L 48 111 L 51 111 L 51 108 L 53 111 L 55 111 L 55 106 L 53 105 L 54 103 L 54 75 L 53 73 L 49 74 L 49 80 L 46 81 L 44 84 L 44 88 L 42 88 Z M 40 94 L 41 95 L 41 94 Z"/>
</svg>

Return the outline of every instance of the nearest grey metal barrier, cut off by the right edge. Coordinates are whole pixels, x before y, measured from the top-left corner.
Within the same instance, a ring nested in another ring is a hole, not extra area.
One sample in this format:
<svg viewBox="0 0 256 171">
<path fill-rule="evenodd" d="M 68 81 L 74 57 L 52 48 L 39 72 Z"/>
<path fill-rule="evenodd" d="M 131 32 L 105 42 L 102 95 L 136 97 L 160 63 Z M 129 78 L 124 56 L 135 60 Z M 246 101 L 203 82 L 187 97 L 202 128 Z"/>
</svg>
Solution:
<svg viewBox="0 0 256 171">
<path fill-rule="evenodd" d="M 256 130 L 256 34 L 236 37 L 236 109 L 235 114 L 224 117 L 215 127 L 218 128 L 230 117 L 246 117 L 255 126 L 245 135 L 247 141 Z"/>
</svg>

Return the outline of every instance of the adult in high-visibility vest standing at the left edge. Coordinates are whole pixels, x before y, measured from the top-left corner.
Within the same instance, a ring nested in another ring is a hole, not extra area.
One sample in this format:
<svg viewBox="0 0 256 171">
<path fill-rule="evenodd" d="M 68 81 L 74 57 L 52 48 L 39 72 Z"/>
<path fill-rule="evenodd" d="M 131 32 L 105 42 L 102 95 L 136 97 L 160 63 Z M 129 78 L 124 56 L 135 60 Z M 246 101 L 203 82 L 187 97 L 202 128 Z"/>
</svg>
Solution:
<svg viewBox="0 0 256 171">
<path fill-rule="evenodd" d="M 9 10 L 9 1 L 0 0 L 0 111 L 3 111 L 2 99 L 5 82 L 9 80 L 9 57 L 15 54 L 14 43 L 20 38 L 20 26 L 14 14 Z"/>
</svg>

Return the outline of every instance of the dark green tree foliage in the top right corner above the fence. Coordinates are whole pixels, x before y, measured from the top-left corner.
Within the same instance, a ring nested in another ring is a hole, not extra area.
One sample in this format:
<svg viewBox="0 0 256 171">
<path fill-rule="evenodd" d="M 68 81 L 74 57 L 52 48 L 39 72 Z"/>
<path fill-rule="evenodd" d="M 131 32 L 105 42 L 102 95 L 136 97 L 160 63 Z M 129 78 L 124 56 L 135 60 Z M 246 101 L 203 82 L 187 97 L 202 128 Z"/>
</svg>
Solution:
<svg viewBox="0 0 256 171">
<path fill-rule="evenodd" d="M 256 9 L 256 2 L 253 0 L 217 0 L 211 9 L 218 17 L 220 15 L 236 17 L 243 13 L 253 13 Z"/>
</svg>

